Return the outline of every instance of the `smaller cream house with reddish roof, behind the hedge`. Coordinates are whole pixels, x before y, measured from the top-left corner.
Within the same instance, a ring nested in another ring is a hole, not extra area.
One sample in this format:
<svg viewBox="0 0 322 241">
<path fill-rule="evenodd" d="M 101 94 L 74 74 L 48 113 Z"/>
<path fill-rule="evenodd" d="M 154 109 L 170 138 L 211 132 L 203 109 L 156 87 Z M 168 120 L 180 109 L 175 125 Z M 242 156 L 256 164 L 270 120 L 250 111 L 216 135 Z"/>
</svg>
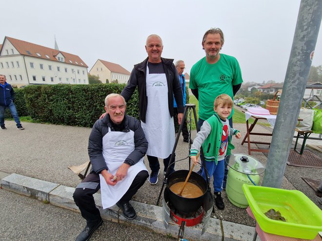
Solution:
<svg viewBox="0 0 322 241">
<path fill-rule="evenodd" d="M 119 64 L 98 59 L 89 74 L 97 75 L 102 83 L 106 83 L 106 80 L 108 80 L 108 83 L 118 80 L 118 83 L 122 84 L 127 83 L 131 73 Z"/>
</svg>

